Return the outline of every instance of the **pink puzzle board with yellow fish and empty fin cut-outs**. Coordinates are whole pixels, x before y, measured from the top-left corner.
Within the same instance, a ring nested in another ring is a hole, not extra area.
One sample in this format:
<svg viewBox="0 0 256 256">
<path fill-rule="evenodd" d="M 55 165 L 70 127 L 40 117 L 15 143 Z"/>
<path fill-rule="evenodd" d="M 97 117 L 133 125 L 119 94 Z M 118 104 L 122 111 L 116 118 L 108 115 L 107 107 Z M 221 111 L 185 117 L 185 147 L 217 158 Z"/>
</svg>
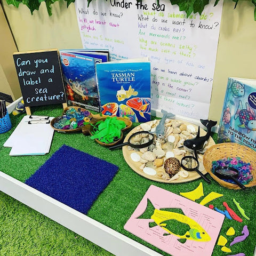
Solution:
<svg viewBox="0 0 256 256">
<path fill-rule="evenodd" d="M 173 256 L 211 256 L 225 215 L 151 185 L 124 229 Z"/>
</svg>

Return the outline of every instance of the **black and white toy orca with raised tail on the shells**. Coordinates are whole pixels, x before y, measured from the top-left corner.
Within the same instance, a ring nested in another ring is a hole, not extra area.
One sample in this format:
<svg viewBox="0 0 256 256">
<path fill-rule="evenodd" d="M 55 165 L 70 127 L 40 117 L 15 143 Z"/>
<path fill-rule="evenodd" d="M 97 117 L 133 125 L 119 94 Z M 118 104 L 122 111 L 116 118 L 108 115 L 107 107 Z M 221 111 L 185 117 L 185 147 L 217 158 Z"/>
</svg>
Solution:
<svg viewBox="0 0 256 256">
<path fill-rule="evenodd" d="M 198 132 L 195 138 L 193 139 L 188 139 L 185 140 L 183 143 L 183 147 L 187 150 L 187 151 L 191 151 L 191 152 L 197 152 L 201 149 L 204 148 L 205 144 L 207 143 L 207 140 L 210 138 L 211 136 L 211 129 L 213 126 L 215 126 L 217 124 L 217 121 L 212 121 L 212 120 L 204 120 L 204 119 L 200 119 L 201 123 L 207 128 L 207 133 L 200 137 L 200 127 L 198 126 Z"/>
</svg>

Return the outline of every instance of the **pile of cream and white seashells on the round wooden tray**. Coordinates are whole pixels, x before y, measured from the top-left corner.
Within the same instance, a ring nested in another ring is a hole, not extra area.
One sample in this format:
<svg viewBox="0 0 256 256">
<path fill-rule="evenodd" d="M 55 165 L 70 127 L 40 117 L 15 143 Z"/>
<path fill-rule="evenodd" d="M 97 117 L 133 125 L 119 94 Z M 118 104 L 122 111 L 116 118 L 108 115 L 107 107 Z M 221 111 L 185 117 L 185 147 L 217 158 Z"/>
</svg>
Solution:
<svg viewBox="0 0 256 256">
<path fill-rule="evenodd" d="M 154 133 L 159 120 L 141 123 L 133 129 L 133 132 L 149 131 Z M 183 142 L 196 137 L 197 129 L 192 124 L 185 124 L 180 120 L 165 120 L 164 138 L 157 138 L 154 134 L 154 142 L 148 147 L 135 149 L 127 146 L 131 151 L 132 161 L 140 163 L 140 170 L 148 175 L 157 175 L 163 180 L 177 180 L 189 177 L 189 173 L 180 167 L 180 160 L 187 155 L 193 155 L 183 149 Z M 138 142 L 143 138 L 139 138 Z M 202 156 L 198 155 L 198 160 Z M 201 158 L 201 159 L 200 159 Z"/>
</svg>

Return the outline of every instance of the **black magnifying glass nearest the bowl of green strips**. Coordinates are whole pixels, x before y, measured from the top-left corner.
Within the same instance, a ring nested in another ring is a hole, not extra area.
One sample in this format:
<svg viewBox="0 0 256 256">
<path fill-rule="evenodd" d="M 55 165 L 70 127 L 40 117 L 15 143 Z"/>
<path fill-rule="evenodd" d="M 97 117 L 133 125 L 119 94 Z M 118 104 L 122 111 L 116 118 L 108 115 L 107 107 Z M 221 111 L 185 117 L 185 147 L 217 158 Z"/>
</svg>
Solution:
<svg viewBox="0 0 256 256">
<path fill-rule="evenodd" d="M 129 145 L 132 148 L 146 148 L 153 143 L 154 134 L 146 131 L 133 133 L 127 142 L 109 147 L 110 150 Z"/>
</svg>

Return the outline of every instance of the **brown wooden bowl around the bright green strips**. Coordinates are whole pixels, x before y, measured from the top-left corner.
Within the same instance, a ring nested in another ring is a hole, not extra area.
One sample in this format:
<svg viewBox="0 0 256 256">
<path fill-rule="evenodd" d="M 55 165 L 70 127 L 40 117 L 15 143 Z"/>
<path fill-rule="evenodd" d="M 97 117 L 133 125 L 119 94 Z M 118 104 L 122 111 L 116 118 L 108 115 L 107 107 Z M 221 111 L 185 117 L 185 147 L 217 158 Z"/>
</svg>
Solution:
<svg viewBox="0 0 256 256">
<path fill-rule="evenodd" d="M 108 117 L 109 117 L 109 116 L 100 116 L 99 118 L 92 120 L 91 123 L 92 123 L 92 124 L 95 124 L 95 123 L 97 123 L 97 122 L 100 121 L 100 120 L 105 121 L 106 118 L 108 118 Z M 94 116 L 94 118 L 95 118 L 95 116 Z M 127 119 L 127 118 L 118 117 L 118 116 L 117 116 L 116 118 L 117 118 L 118 120 L 124 121 L 125 124 L 126 124 L 126 126 L 124 127 L 124 129 L 121 130 L 121 137 L 120 137 L 118 140 L 116 140 L 115 142 L 113 142 L 113 143 L 104 143 L 104 142 L 99 141 L 98 139 L 94 139 L 97 143 L 99 143 L 100 145 L 105 146 L 105 147 L 111 147 L 111 146 L 114 146 L 114 145 L 116 145 L 117 143 L 119 143 L 119 142 L 122 141 L 122 139 L 123 139 L 123 132 L 131 128 L 132 122 L 131 122 L 129 119 Z M 88 133 L 89 133 L 90 135 L 93 135 L 93 134 L 92 134 L 92 130 L 93 130 L 93 126 L 90 125 L 90 124 L 87 124 L 87 125 L 85 125 L 85 126 L 82 127 L 82 132 L 83 132 L 84 135 L 86 135 L 86 134 L 88 134 Z"/>
</svg>

